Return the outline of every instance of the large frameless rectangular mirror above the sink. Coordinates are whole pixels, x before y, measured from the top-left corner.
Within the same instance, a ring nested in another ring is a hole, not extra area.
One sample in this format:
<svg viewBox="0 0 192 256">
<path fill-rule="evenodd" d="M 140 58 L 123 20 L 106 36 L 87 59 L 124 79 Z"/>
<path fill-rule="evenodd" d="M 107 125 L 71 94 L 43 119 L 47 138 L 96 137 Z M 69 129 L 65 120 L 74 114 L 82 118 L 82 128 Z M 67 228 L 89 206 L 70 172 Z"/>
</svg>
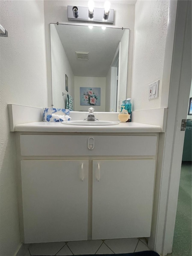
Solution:
<svg viewBox="0 0 192 256">
<path fill-rule="evenodd" d="M 75 111 L 119 111 L 127 90 L 129 29 L 50 24 L 50 40 L 53 107 L 66 108 L 69 94 Z"/>
</svg>

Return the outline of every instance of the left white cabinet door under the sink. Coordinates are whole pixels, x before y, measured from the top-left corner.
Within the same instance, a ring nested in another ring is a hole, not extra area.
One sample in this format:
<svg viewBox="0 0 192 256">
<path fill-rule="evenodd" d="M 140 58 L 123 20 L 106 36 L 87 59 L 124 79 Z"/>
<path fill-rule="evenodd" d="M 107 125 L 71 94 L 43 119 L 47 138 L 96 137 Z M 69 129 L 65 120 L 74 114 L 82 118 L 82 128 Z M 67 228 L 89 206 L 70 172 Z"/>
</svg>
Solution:
<svg viewBox="0 0 192 256">
<path fill-rule="evenodd" d="M 88 160 L 22 160 L 25 243 L 86 240 Z"/>
</svg>

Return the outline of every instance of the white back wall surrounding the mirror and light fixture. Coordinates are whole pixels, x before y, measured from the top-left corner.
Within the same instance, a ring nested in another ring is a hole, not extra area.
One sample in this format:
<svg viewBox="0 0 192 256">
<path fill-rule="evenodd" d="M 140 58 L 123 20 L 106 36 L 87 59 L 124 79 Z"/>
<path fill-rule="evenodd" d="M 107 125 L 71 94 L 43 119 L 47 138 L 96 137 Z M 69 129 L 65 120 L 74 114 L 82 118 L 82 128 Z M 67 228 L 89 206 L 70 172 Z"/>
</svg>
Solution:
<svg viewBox="0 0 192 256">
<path fill-rule="evenodd" d="M 103 8 L 104 2 L 95 2 L 95 7 Z M 134 42 L 134 21 L 135 21 L 135 5 L 122 4 L 111 2 L 111 9 L 115 10 L 115 22 L 113 25 L 106 25 L 107 27 L 128 28 L 129 34 L 129 56 L 128 56 L 128 81 L 127 81 L 127 97 L 131 95 L 132 82 L 132 62 L 133 62 L 133 42 Z M 127 1 L 125 1 L 127 2 Z M 49 23 L 64 23 L 74 25 L 87 25 L 87 23 L 76 23 L 68 21 L 67 19 L 67 5 L 88 6 L 88 1 L 73 1 L 73 0 L 50 0 L 44 1 L 44 15 L 45 15 L 45 40 L 46 40 L 46 61 L 47 61 L 47 84 L 48 84 L 48 102 L 49 107 L 52 102 L 51 92 L 51 55 L 50 55 L 50 29 Z"/>
</svg>

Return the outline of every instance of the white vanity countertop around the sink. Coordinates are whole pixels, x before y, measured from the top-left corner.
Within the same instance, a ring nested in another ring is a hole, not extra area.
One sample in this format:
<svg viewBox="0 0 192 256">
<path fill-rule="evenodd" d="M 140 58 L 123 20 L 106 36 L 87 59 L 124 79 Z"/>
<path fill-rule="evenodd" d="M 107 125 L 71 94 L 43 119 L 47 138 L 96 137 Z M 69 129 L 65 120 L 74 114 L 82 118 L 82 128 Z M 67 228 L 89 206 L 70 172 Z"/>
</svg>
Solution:
<svg viewBox="0 0 192 256">
<path fill-rule="evenodd" d="M 102 133 L 118 133 L 118 132 L 162 132 L 159 125 L 148 125 L 141 123 L 119 123 L 119 125 L 109 126 L 80 126 L 80 125 L 64 125 L 60 122 L 32 122 L 15 125 L 14 131 L 26 132 L 102 132 Z"/>
</svg>

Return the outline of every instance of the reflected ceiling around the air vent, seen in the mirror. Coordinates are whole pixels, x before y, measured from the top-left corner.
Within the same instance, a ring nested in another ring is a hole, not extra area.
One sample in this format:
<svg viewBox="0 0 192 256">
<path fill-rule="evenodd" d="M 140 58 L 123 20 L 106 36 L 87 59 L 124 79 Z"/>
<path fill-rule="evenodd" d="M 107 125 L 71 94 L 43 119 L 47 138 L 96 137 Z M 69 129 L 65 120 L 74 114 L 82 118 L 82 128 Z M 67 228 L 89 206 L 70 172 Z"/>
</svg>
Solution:
<svg viewBox="0 0 192 256">
<path fill-rule="evenodd" d="M 125 29 L 64 24 L 55 28 L 75 76 L 106 77 Z M 89 59 L 77 59 L 75 52 L 89 52 Z"/>
</svg>

